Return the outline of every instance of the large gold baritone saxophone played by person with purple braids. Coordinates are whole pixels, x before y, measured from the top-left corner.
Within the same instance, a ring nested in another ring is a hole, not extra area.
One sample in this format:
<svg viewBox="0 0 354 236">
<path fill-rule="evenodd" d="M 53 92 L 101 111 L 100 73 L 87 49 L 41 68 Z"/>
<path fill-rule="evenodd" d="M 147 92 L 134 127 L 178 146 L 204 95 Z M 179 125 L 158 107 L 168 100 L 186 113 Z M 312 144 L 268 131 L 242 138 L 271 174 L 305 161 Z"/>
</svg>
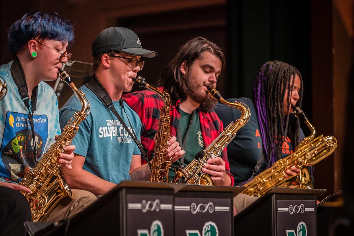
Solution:
<svg viewBox="0 0 354 236">
<path fill-rule="evenodd" d="M 322 134 L 315 137 L 315 128 L 308 121 L 304 112 L 299 107 L 294 107 L 293 113 L 296 117 L 301 115 L 305 123 L 311 130 L 310 136 L 304 138 L 296 147 L 295 152 L 290 156 L 275 162 L 272 167 L 256 175 L 252 180 L 244 184 L 246 187 L 243 194 L 260 197 L 274 187 L 311 189 L 311 176 L 306 168 L 312 166 L 327 156 L 337 148 L 337 139 L 333 136 L 324 137 Z M 298 166 L 301 171 L 297 175 L 285 178 L 284 174 L 291 166 Z"/>
</svg>

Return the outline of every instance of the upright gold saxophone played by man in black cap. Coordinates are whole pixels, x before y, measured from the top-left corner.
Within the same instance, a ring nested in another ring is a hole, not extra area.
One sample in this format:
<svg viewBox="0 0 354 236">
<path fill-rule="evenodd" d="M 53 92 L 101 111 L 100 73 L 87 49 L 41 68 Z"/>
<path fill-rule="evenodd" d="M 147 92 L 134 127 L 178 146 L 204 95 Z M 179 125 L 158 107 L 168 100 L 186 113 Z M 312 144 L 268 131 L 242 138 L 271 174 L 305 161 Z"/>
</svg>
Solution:
<svg viewBox="0 0 354 236">
<path fill-rule="evenodd" d="M 172 166 L 172 157 L 167 156 L 168 141 L 171 138 L 170 134 L 170 111 L 171 109 L 171 97 L 170 94 L 159 88 L 154 88 L 145 82 L 145 79 L 141 76 L 133 78 L 133 81 L 140 87 L 145 87 L 155 92 L 160 98 L 164 100 L 164 105 L 160 109 L 159 116 L 159 128 L 157 131 L 156 143 L 154 148 L 154 158 L 151 167 L 151 175 L 149 182 L 165 182 L 168 181 L 169 169 Z M 166 178 L 165 178 L 166 177 Z"/>
</svg>

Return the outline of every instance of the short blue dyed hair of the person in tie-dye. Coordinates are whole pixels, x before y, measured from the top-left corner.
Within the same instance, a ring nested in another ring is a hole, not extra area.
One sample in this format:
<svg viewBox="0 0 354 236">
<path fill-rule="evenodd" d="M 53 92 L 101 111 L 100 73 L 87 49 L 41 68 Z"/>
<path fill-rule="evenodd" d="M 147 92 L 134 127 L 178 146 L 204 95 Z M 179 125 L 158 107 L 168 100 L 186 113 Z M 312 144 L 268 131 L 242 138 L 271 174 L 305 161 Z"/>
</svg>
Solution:
<svg viewBox="0 0 354 236">
<path fill-rule="evenodd" d="M 72 24 L 57 13 L 27 13 L 8 30 L 8 47 L 13 57 L 29 40 L 57 40 L 69 45 L 74 42 Z"/>
</svg>

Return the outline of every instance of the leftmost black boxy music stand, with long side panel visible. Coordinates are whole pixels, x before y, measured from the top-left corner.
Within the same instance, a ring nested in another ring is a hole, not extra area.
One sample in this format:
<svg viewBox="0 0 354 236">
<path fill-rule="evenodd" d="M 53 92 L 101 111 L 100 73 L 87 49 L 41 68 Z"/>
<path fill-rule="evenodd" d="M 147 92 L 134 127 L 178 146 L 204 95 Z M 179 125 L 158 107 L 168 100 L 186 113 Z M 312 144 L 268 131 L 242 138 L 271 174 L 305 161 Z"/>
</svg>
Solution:
<svg viewBox="0 0 354 236">
<path fill-rule="evenodd" d="M 173 235 L 172 184 L 123 181 L 90 207 L 34 236 Z M 32 223 L 36 224 L 36 223 Z M 140 234 L 139 234 L 140 233 Z"/>
</svg>

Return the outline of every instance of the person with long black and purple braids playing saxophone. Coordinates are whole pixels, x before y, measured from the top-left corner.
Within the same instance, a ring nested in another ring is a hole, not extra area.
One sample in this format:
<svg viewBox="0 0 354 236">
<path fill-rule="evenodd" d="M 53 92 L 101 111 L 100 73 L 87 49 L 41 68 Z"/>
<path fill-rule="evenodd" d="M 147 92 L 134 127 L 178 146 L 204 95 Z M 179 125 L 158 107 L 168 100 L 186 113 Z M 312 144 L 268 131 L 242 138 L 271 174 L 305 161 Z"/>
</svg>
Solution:
<svg viewBox="0 0 354 236">
<path fill-rule="evenodd" d="M 227 99 L 245 103 L 251 111 L 250 121 L 227 146 L 234 185 L 242 185 L 277 160 L 292 154 L 304 138 L 299 119 L 292 114 L 292 105 L 301 107 L 302 92 L 302 77 L 295 67 L 270 61 L 263 64 L 255 78 L 252 99 Z M 224 127 L 241 116 L 238 109 L 220 103 L 214 110 Z M 299 171 L 293 166 L 285 177 Z"/>
</svg>

